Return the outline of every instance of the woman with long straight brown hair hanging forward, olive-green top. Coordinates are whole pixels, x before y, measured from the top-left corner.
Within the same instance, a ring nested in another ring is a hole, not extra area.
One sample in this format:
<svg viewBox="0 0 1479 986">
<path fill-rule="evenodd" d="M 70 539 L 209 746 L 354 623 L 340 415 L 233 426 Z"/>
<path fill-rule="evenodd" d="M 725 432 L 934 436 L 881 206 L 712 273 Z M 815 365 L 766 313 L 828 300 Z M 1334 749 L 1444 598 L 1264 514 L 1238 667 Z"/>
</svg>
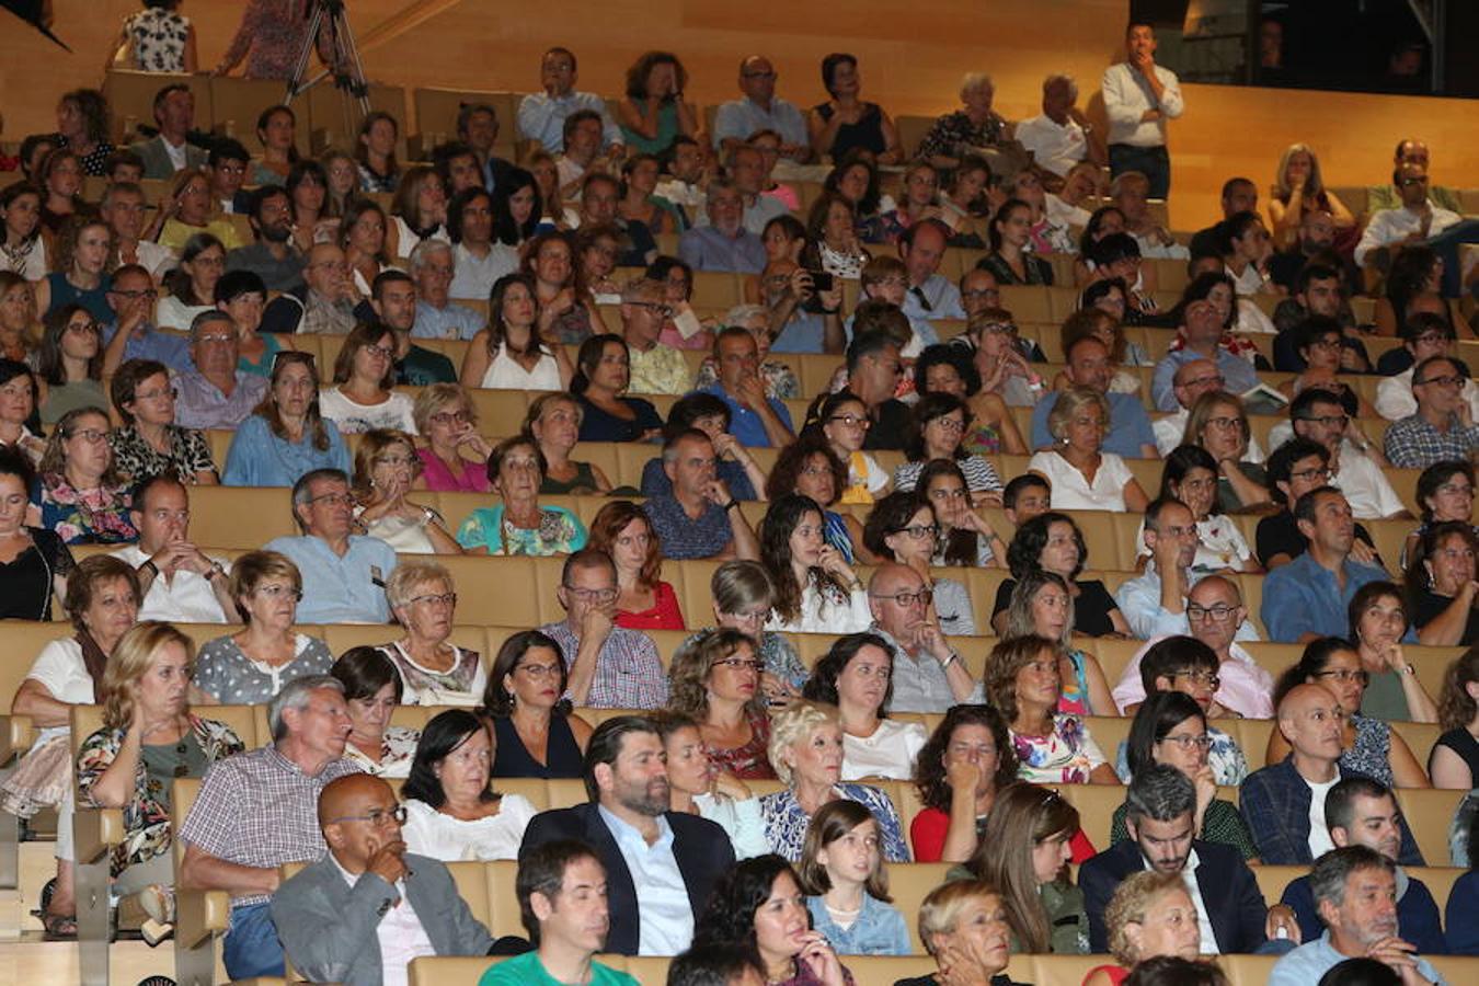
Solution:
<svg viewBox="0 0 1479 986">
<path fill-rule="evenodd" d="M 951 871 L 997 887 L 1013 953 L 1084 955 L 1084 891 L 1068 878 L 1078 810 L 1052 788 L 1009 783 L 997 794 L 981 844 Z"/>
</svg>

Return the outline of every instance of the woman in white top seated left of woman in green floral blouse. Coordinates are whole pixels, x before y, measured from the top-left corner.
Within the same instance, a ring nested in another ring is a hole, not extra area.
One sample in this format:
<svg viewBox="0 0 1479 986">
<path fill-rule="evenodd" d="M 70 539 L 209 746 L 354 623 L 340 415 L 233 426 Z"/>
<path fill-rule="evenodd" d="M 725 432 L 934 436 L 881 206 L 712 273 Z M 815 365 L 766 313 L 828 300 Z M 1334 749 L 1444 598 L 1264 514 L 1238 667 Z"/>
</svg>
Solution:
<svg viewBox="0 0 1479 986">
<path fill-rule="evenodd" d="M 461 554 L 435 509 L 407 500 L 422 473 L 416 441 L 405 432 L 373 429 L 355 452 L 355 522 L 402 554 Z"/>
</svg>

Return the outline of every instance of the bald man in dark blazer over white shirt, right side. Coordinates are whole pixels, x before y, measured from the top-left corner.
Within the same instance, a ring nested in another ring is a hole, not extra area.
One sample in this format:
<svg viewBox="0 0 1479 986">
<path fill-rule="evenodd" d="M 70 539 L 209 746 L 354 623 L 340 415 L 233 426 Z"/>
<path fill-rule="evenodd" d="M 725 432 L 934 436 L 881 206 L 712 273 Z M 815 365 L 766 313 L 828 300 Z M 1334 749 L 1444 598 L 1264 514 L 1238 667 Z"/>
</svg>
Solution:
<svg viewBox="0 0 1479 986">
<path fill-rule="evenodd" d="M 1341 649 L 1328 637 L 1310 646 Z M 1278 730 L 1293 749 L 1281 763 L 1248 775 L 1238 795 L 1238 809 L 1265 863 L 1309 866 L 1336 847 L 1325 822 L 1325 795 L 1344 778 L 1370 781 L 1340 766 L 1344 726 L 1340 702 L 1322 684 L 1297 684 L 1279 702 Z M 1412 832 L 1405 820 L 1399 825 L 1398 862 L 1421 866 L 1423 853 Z"/>
</svg>

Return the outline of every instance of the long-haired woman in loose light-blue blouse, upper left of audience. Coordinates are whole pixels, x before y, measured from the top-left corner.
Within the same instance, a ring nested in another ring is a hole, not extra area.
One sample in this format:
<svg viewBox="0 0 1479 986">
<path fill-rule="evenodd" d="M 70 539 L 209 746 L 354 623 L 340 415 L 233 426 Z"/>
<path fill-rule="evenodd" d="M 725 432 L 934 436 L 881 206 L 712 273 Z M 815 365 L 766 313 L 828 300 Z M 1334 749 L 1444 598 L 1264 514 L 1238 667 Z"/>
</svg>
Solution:
<svg viewBox="0 0 1479 986">
<path fill-rule="evenodd" d="M 305 352 L 272 361 L 268 392 L 226 452 L 228 486 L 291 486 L 315 469 L 351 472 L 349 448 L 318 409 L 318 367 Z"/>
</svg>

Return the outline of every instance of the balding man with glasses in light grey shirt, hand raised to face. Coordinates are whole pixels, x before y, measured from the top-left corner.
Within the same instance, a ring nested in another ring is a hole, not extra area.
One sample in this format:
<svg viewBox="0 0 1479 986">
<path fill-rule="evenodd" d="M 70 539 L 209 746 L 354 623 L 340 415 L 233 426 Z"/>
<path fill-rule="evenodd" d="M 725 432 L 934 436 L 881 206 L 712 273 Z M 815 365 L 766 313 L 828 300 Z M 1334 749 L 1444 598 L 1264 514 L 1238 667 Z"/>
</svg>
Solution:
<svg viewBox="0 0 1479 986">
<path fill-rule="evenodd" d="M 893 647 L 895 713 L 947 713 L 960 702 L 986 701 L 930 615 L 932 597 L 924 578 L 905 565 L 880 565 L 868 582 L 870 630 Z"/>
</svg>

